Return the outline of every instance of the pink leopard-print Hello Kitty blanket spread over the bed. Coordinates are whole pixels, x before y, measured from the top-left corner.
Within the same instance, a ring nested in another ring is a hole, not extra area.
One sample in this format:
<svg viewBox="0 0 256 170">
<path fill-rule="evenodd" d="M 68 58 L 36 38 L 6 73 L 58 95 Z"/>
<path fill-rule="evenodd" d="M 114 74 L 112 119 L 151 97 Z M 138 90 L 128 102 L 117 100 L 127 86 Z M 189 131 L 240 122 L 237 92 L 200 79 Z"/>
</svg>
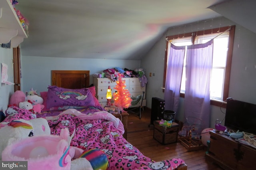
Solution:
<svg viewBox="0 0 256 170">
<path fill-rule="evenodd" d="M 26 117 L 29 114 L 19 112 L 16 118 Z M 68 128 L 74 136 L 70 146 L 83 150 L 101 149 L 108 156 L 108 170 L 173 170 L 184 161 L 178 158 L 154 162 L 144 156 L 136 147 L 130 144 L 123 136 L 124 127 L 120 119 L 106 111 L 98 111 L 85 115 L 76 109 L 68 109 L 59 115 L 45 117 L 50 126 L 51 134 L 60 134 L 62 128 Z M 23 118 L 22 118 L 23 119 Z M 27 119 L 33 119 L 31 116 Z M 10 118 L 6 119 L 10 121 Z"/>
</svg>

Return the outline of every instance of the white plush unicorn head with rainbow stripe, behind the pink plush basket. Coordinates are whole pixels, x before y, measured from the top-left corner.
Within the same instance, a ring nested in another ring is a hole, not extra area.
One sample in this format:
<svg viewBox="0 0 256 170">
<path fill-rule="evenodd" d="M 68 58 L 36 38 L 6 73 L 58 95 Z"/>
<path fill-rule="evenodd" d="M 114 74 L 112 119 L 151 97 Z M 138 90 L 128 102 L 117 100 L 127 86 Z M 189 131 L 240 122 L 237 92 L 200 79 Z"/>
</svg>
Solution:
<svg viewBox="0 0 256 170">
<path fill-rule="evenodd" d="M 24 138 L 38 136 L 42 134 L 50 134 L 50 127 L 44 118 L 14 120 L 11 122 L 0 123 L 0 153 L 6 146 L 20 141 Z M 2 156 L 0 155 L 0 160 Z"/>
</svg>

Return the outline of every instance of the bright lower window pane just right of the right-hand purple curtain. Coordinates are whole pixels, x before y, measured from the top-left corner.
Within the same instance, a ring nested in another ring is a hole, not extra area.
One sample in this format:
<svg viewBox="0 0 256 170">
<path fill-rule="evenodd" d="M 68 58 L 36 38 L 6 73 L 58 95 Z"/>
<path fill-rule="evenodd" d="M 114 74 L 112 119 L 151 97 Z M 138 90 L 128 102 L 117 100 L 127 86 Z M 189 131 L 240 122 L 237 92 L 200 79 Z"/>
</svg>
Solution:
<svg viewBox="0 0 256 170">
<path fill-rule="evenodd" d="M 224 85 L 224 69 L 212 69 L 212 77 L 210 82 L 211 99 L 222 100 Z"/>
</svg>

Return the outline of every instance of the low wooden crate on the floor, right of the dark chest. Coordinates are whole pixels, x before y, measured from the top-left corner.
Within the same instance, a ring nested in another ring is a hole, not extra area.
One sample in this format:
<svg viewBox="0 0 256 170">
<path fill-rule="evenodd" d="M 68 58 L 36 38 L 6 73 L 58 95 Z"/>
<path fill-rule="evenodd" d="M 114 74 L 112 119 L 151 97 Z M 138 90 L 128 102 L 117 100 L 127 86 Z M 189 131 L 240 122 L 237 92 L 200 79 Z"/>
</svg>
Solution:
<svg viewBox="0 0 256 170">
<path fill-rule="evenodd" d="M 193 139 L 188 136 L 179 138 L 180 144 L 182 144 L 188 151 L 200 150 L 204 148 L 202 142 L 198 139 Z"/>
</svg>

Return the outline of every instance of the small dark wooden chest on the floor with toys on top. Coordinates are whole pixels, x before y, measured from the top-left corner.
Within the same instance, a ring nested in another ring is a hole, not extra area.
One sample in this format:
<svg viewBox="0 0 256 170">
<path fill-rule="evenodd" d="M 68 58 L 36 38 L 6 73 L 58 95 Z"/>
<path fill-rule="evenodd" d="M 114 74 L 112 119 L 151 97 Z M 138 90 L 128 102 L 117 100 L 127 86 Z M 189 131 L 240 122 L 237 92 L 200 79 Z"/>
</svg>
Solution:
<svg viewBox="0 0 256 170">
<path fill-rule="evenodd" d="M 159 121 L 154 121 L 154 135 L 153 138 L 161 144 L 170 144 L 177 142 L 179 131 L 179 124 L 173 122 L 170 128 L 159 126 Z"/>
</svg>

